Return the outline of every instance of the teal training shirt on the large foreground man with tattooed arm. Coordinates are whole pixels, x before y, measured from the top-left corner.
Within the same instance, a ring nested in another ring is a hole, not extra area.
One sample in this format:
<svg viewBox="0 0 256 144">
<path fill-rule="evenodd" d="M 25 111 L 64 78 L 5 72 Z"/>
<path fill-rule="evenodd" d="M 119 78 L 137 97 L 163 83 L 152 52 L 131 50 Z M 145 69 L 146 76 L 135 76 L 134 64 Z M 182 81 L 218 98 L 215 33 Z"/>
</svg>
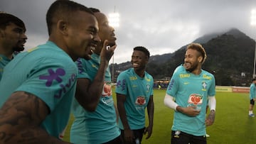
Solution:
<svg viewBox="0 0 256 144">
<path fill-rule="evenodd" d="M 16 91 L 38 96 L 50 109 L 41 127 L 59 138 L 68 124 L 77 74 L 75 62 L 50 41 L 22 52 L 4 68 L 0 107 Z"/>
</svg>

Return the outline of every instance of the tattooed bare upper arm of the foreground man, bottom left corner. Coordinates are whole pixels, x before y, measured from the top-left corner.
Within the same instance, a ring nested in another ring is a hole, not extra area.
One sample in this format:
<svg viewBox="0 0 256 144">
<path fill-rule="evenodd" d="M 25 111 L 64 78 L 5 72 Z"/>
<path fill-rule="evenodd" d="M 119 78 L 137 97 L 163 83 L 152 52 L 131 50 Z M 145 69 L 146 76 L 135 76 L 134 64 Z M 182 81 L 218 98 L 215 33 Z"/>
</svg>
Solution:
<svg viewBox="0 0 256 144">
<path fill-rule="evenodd" d="M 38 96 L 27 92 L 11 94 L 0 109 L 0 143 L 60 141 L 40 128 L 48 113 L 48 106 Z"/>
</svg>

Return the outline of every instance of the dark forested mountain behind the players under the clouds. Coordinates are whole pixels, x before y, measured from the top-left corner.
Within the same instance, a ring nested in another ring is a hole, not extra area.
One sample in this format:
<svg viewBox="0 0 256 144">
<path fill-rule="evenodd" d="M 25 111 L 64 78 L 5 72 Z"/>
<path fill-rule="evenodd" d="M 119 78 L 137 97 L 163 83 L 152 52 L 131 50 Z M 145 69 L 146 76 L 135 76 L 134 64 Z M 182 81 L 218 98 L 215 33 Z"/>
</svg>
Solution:
<svg viewBox="0 0 256 144">
<path fill-rule="evenodd" d="M 249 86 L 252 79 L 255 40 L 237 28 L 224 33 L 211 33 L 197 38 L 193 43 L 201 43 L 206 49 L 207 59 L 202 68 L 215 75 L 217 85 Z M 186 45 L 173 53 L 153 55 L 146 71 L 154 79 L 169 79 L 178 65 L 183 63 Z M 132 67 L 130 62 L 114 66 L 114 78 L 119 72 Z"/>
</svg>

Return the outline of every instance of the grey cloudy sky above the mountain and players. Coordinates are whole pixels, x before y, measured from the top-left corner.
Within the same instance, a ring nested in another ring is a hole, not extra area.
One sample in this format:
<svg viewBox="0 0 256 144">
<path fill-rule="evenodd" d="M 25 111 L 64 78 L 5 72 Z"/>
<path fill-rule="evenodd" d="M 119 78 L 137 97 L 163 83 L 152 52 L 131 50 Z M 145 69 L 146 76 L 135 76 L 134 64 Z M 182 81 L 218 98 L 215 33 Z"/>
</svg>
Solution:
<svg viewBox="0 0 256 144">
<path fill-rule="evenodd" d="M 0 0 L 0 11 L 21 18 L 26 24 L 26 49 L 48 40 L 46 11 L 54 0 Z M 115 28 L 117 49 L 114 63 L 131 59 L 132 48 L 142 45 L 151 55 L 174 52 L 208 33 L 230 28 L 256 38 L 251 26 L 255 0 L 74 0 L 103 13 L 119 13 Z M 111 60 L 111 62 L 113 62 Z"/>
</svg>

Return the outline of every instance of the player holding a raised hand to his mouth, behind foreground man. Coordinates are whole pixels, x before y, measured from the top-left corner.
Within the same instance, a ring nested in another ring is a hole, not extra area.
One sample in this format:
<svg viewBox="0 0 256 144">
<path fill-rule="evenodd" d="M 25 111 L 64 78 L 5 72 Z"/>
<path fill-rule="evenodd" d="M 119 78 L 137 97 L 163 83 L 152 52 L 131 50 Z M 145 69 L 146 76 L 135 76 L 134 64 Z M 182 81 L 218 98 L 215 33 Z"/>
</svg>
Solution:
<svg viewBox="0 0 256 144">
<path fill-rule="evenodd" d="M 122 144 L 117 116 L 112 98 L 109 60 L 117 47 L 114 28 L 109 26 L 107 16 L 98 9 L 91 10 L 99 25 L 97 44 L 91 60 L 79 58 L 78 85 L 73 103 L 73 121 L 70 130 L 71 143 Z M 105 54 L 109 45 L 109 53 Z M 112 51 L 110 51 L 112 50 Z"/>
</svg>

